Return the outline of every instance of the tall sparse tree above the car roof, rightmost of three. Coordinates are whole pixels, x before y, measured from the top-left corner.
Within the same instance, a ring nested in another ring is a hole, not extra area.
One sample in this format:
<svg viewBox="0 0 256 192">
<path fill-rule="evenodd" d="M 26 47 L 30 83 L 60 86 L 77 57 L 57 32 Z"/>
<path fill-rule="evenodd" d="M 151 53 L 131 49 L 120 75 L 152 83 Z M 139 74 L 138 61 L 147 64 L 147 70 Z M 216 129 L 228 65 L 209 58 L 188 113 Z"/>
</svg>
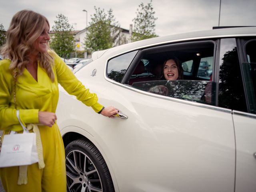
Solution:
<svg viewBox="0 0 256 192">
<path fill-rule="evenodd" d="M 134 30 L 132 33 L 132 41 L 138 41 L 143 39 L 148 39 L 156 37 L 155 34 L 155 21 L 154 10 L 152 6 L 152 0 L 148 5 L 144 6 L 143 3 L 139 5 L 136 12 L 137 16 L 132 21 L 134 22 Z"/>
</svg>

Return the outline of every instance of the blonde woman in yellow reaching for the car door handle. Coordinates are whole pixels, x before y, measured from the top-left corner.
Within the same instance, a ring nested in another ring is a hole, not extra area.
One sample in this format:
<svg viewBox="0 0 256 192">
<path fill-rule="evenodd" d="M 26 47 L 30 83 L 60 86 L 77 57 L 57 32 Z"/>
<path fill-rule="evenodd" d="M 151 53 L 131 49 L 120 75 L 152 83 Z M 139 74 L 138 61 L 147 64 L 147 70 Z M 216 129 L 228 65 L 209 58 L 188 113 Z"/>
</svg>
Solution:
<svg viewBox="0 0 256 192">
<path fill-rule="evenodd" d="M 66 192 L 64 145 L 55 114 L 58 83 L 95 112 L 108 117 L 118 112 L 99 104 L 96 94 L 90 93 L 49 49 L 49 28 L 44 16 L 22 10 L 13 16 L 6 44 L 1 47 L 5 59 L 0 61 L 0 130 L 4 134 L 22 131 L 17 109 L 27 126 L 38 127 L 42 142 L 41 160 L 27 170 L 22 166 L 0 168 L 6 192 Z"/>
</svg>

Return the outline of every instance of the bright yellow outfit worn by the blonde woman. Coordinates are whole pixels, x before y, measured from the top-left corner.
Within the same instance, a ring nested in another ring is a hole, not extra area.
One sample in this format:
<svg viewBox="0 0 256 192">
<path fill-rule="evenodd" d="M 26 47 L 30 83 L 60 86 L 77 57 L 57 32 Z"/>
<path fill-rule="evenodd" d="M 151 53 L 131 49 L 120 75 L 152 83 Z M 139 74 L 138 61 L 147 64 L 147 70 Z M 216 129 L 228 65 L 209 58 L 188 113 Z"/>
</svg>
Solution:
<svg viewBox="0 0 256 192">
<path fill-rule="evenodd" d="M 90 93 L 77 80 L 73 72 L 61 58 L 54 54 L 52 82 L 38 63 L 36 81 L 28 70 L 24 69 L 16 83 L 16 106 L 20 118 L 25 124 L 38 123 L 38 111 L 55 112 L 58 103 L 58 83 L 78 100 L 91 106 L 95 112 L 102 109 L 96 94 Z M 9 70 L 10 60 L 0 61 L 0 130 L 21 131 L 14 108 L 14 78 Z M 58 120 L 57 120 L 58 121 Z M 18 185 L 19 167 L 0 168 L 2 184 L 6 192 L 66 192 L 65 151 L 58 125 L 51 128 L 38 126 L 40 130 L 45 168 L 39 169 L 38 163 L 28 166 L 28 183 Z"/>
</svg>

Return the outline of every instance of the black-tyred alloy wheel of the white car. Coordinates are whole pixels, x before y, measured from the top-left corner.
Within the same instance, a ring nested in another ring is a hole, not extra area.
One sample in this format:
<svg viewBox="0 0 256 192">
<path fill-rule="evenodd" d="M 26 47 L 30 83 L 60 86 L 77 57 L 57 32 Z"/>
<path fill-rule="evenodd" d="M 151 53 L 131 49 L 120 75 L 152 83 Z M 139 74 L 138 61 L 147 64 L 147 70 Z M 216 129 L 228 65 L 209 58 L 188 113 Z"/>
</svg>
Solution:
<svg viewBox="0 0 256 192">
<path fill-rule="evenodd" d="M 94 144 L 74 140 L 65 153 L 68 192 L 114 192 L 106 162 Z"/>
</svg>

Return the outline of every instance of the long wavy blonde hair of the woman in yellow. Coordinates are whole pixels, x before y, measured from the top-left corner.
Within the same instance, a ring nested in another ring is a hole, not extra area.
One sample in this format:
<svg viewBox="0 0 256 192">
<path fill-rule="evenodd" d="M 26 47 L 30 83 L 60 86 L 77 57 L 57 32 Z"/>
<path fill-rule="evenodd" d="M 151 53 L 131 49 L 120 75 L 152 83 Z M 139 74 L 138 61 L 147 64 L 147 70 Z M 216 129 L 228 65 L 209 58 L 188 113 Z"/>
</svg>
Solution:
<svg viewBox="0 0 256 192">
<path fill-rule="evenodd" d="M 10 27 L 6 32 L 6 44 L 0 49 L 4 58 L 9 58 L 12 61 L 10 64 L 11 70 L 17 68 L 19 75 L 23 73 L 24 68 L 29 64 L 29 54 L 34 49 L 33 44 L 44 31 L 46 23 L 50 28 L 46 17 L 31 10 L 21 10 L 13 16 Z M 50 50 L 49 42 L 47 46 Z M 54 82 L 53 55 L 49 51 L 39 52 L 37 60 Z"/>
</svg>

